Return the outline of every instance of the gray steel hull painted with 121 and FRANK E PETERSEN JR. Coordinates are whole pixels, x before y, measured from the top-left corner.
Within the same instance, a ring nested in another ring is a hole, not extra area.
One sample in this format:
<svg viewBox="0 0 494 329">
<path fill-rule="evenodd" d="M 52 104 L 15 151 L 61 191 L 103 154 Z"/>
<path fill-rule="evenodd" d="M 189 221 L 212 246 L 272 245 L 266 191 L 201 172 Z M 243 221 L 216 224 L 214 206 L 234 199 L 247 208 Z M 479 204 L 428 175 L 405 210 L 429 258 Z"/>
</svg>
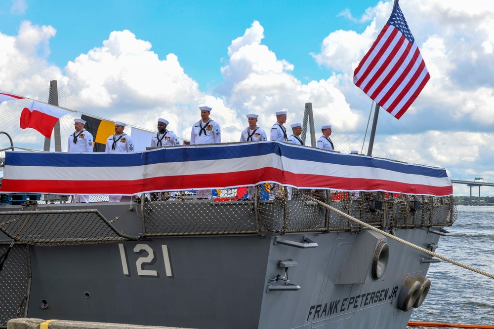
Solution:
<svg viewBox="0 0 494 329">
<path fill-rule="evenodd" d="M 107 218 L 127 209 L 123 204 L 99 206 Z M 141 219 L 127 212 L 115 227 L 136 236 Z M 396 229 L 396 235 L 428 248 L 439 240 L 429 231 Z M 307 238 L 317 247 L 301 248 Z M 382 238 L 389 245 L 389 262 L 384 276 L 373 280 L 373 251 Z M 0 239 L 8 241 L 3 234 Z M 2 285 L 9 287 L 9 280 L 12 286 L 16 276 L 29 272 L 26 312 L 18 316 L 202 329 L 405 328 L 412 310 L 397 307 L 402 284 L 408 275 L 425 276 L 429 267 L 422 262 L 428 258 L 423 253 L 367 230 L 152 236 L 25 247 L 14 245 L 29 254 L 29 271 L 16 274 L 12 269 L 19 265 L 9 269 L 7 262 L 0 273 Z M 280 261 L 296 264 L 286 272 Z M 278 275 L 281 279 L 270 281 Z"/>
</svg>

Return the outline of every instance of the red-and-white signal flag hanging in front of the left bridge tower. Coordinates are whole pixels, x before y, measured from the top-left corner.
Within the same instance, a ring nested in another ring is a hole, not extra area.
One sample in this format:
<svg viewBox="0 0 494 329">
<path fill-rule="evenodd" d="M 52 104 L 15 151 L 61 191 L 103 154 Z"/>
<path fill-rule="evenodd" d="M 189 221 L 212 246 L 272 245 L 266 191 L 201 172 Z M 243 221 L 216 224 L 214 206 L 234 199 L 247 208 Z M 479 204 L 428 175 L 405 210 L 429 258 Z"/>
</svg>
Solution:
<svg viewBox="0 0 494 329">
<path fill-rule="evenodd" d="M 48 104 L 31 102 L 21 112 L 20 126 L 22 129 L 33 128 L 44 137 L 51 138 L 55 123 L 67 113 L 70 111 Z"/>
</svg>

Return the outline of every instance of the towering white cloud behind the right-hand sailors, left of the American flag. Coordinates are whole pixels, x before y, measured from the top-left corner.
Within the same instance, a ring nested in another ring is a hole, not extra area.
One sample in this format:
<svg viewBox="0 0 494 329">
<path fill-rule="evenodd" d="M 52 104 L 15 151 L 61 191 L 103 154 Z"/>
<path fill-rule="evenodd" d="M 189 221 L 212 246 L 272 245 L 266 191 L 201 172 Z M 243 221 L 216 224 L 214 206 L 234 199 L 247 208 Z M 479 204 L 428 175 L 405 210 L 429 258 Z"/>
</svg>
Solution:
<svg viewBox="0 0 494 329">
<path fill-rule="evenodd" d="M 245 114 L 254 112 L 260 115 L 259 126 L 269 131 L 276 121 L 275 112 L 286 108 L 289 131 L 289 124 L 302 120 L 305 103 L 310 102 L 320 124 L 337 124 L 343 131 L 356 128 L 358 111 L 351 109 L 338 90 L 338 78 L 302 83 L 293 76 L 294 67 L 288 60 L 277 58 L 267 45 L 261 44 L 263 38 L 264 29 L 254 21 L 244 36 L 232 41 L 229 59 L 221 68 L 225 81 L 217 90 L 237 111 L 243 125 L 247 125 Z"/>
</svg>

